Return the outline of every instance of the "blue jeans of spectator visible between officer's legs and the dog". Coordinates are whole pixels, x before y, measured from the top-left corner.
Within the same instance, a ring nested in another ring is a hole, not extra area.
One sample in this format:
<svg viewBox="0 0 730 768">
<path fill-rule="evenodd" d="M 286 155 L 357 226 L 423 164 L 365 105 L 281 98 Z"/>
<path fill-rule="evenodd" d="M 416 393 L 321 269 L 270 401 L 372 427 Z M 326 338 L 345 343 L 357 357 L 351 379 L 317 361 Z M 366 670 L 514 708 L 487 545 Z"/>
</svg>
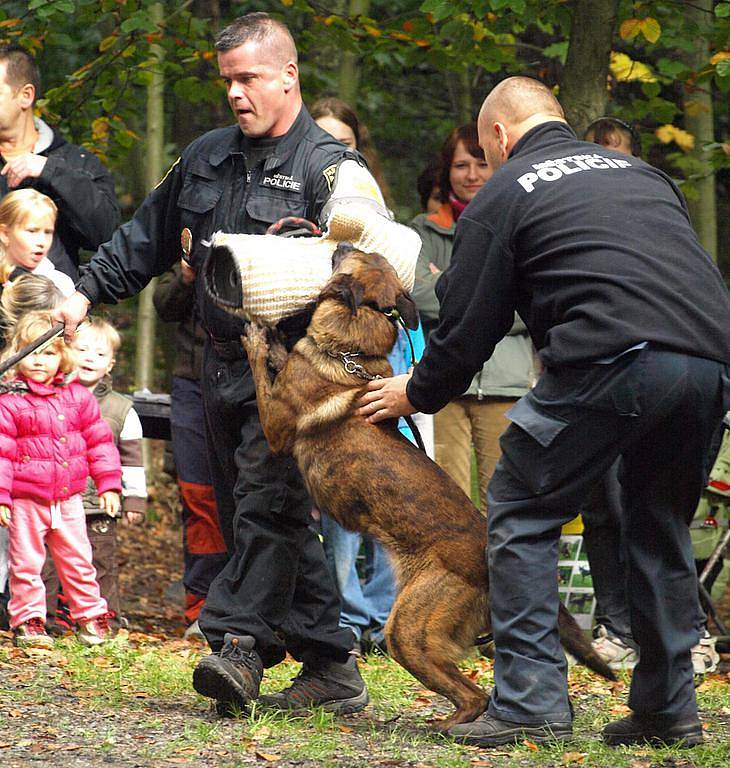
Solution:
<svg viewBox="0 0 730 768">
<path fill-rule="evenodd" d="M 327 563 L 342 601 L 340 626 L 349 627 L 357 642 L 368 630 L 373 642 L 381 642 L 396 595 L 395 578 L 384 547 L 369 536 L 345 530 L 324 512 L 321 527 Z M 360 583 L 356 559 L 363 541 L 365 580 Z"/>
</svg>

